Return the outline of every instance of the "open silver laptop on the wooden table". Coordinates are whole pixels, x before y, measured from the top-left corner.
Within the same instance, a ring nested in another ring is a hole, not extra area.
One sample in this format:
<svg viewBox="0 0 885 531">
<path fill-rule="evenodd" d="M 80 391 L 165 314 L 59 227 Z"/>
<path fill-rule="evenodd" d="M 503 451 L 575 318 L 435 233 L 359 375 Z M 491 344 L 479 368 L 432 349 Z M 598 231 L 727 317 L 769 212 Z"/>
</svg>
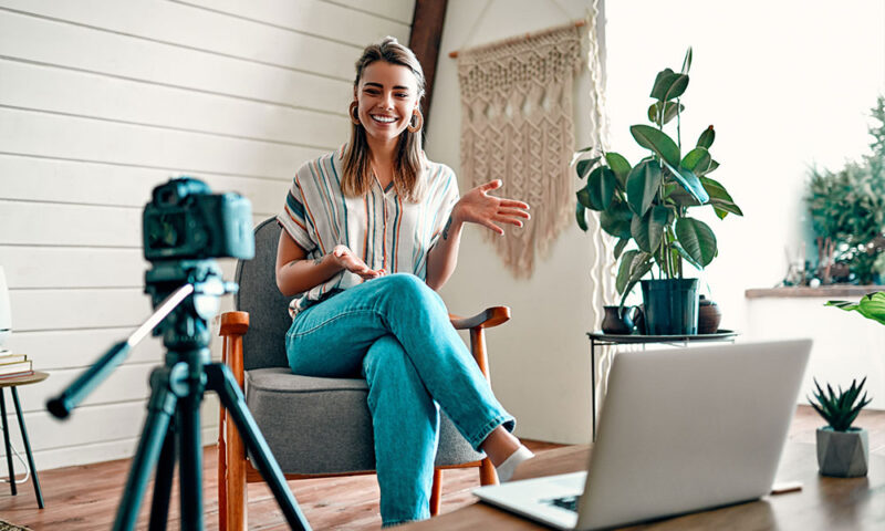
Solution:
<svg viewBox="0 0 885 531">
<path fill-rule="evenodd" d="M 473 491 L 555 529 L 604 529 L 768 494 L 811 340 L 614 356 L 586 472 Z"/>
</svg>

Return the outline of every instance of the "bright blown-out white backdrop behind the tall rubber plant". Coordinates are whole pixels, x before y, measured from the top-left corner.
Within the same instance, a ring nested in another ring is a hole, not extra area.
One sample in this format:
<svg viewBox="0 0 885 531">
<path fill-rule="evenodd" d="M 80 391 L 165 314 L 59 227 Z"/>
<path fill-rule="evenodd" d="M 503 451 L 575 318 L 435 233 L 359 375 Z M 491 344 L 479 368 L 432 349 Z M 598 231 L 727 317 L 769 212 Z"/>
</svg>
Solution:
<svg viewBox="0 0 885 531">
<path fill-rule="evenodd" d="M 647 123 L 655 74 L 678 70 L 694 46 L 683 139 L 694 145 L 715 125 L 711 177 L 745 212 L 705 218 L 719 240 L 706 280 L 722 326 L 752 332 L 743 291 L 783 279 L 784 247 L 803 239 L 808 167 L 837 169 L 867 149 L 870 108 L 885 92 L 885 3 L 622 0 L 606 10 L 612 149 L 632 162 L 644 155 L 628 127 Z"/>
</svg>

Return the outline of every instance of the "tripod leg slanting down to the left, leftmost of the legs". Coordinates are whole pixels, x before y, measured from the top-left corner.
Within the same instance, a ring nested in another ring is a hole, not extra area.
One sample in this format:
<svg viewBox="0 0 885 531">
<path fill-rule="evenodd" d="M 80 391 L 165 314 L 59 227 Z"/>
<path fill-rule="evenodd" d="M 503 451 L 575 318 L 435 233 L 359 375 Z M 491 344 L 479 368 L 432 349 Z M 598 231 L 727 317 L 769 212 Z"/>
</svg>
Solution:
<svg viewBox="0 0 885 531">
<path fill-rule="evenodd" d="M 114 520 L 114 531 L 129 531 L 135 529 L 138 518 L 138 508 L 145 493 L 148 476 L 154 464 L 157 462 L 160 446 L 169 430 L 169 419 L 175 413 L 177 397 L 169 388 L 170 368 L 155 368 L 150 374 L 150 402 L 147 405 L 147 418 L 138 439 L 138 449 L 132 460 L 129 477 L 123 490 L 117 516 Z"/>
</svg>

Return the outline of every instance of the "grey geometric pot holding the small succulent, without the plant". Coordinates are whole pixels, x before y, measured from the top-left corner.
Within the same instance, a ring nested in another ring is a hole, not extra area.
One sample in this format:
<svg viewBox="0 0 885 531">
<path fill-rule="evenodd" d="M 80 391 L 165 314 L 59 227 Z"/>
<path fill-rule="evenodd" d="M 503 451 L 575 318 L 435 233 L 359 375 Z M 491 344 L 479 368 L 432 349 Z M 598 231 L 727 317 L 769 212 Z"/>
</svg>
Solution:
<svg viewBox="0 0 885 531">
<path fill-rule="evenodd" d="M 818 428 L 818 467 L 821 475 L 836 478 L 866 476 L 870 462 L 870 437 L 864 428 L 835 431 Z"/>
</svg>

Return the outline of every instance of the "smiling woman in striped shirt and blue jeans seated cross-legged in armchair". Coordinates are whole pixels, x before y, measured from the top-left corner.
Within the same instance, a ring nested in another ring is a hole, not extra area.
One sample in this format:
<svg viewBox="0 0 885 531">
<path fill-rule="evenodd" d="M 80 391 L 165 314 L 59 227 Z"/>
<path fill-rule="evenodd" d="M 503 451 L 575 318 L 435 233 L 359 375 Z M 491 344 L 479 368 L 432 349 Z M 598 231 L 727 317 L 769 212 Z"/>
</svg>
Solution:
<svg viewBox="0 0 885 531">
<path fill-rule="evenodd" d="M 489 196 L 499 180 L 458 198 L 451 169 L 421 150 L 423 95 L 410 50 L 393 38 L 367 46 L 351 140 L 299 169 L 278 217 L 277 285 L 298 295 L 289 364 L 366 378 L 385 527 L 429 517 L 437 404 L 501 480 L 532 457 L 434 291 L 455 270 L 465 223 L 503 235 L 498 223 L 521 227 L 529 206 Z"/>
</svg>

